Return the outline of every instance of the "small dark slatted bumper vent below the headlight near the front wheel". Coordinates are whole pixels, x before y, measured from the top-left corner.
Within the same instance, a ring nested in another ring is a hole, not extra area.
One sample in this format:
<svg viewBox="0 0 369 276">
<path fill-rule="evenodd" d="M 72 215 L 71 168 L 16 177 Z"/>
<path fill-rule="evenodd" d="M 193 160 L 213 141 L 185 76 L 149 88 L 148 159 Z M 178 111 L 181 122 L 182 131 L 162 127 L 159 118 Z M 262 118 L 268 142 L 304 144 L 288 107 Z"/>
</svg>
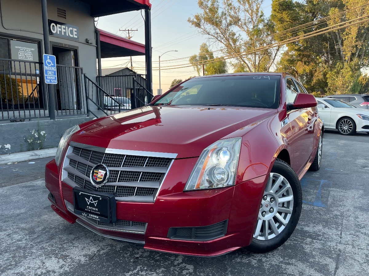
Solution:
<svg viewBox="0 0 369 276">
<path fill-rule="evenodd" d="M 171 227 L 168 238 L 172 240 L 210 241 L 223 237 L 227 233 L 228 219 L 208 226 Z"/>
</svg>

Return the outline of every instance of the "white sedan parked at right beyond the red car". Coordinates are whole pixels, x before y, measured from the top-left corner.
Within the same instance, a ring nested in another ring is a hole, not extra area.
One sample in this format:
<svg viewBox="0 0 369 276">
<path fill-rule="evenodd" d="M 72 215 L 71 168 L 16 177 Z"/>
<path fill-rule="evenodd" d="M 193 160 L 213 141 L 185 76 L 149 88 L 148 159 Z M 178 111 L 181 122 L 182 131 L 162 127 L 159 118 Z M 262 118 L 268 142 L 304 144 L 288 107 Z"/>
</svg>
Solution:
<svg viewBox="0 0 369 276">
<path fill-rule="evenodd" d="M 369 110 L 332 98 L 317 98 L 317 102 L 324 128 L 337 129 L 342 135 L 369 133 Z"/>
</svg>

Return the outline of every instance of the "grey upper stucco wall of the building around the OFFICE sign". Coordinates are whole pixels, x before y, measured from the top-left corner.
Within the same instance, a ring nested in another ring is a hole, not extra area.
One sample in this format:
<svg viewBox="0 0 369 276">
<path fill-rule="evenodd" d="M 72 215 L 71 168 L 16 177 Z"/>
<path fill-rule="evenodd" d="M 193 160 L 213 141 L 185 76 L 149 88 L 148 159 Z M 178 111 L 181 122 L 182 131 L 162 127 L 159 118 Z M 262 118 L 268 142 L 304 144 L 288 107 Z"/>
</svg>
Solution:
<svg viewBox="0 0 369 276">
<path fill-rule="evenodd" d="M 43 40 L 41 1 L 39 0 L 0 0 L 2 18 L 0 32 L 12 35 L 27 36 Z M 79 66 L 87 77 L 95 80 L 96 70 L 96 39 L 94 18 L 90 16 L 90 6 L 74 0 L 48 0 L 48 19 L 78 27 L 79 41 L 49 36 L 50 42 L 64 43 L 78 47 Z M 66 10 L 66 19 L 56 14 L 56 9 Z M 86 43 L 90 39 L 93 43 Z M 41 54 L 44 53 L 43 42 Z"/>
</svg>

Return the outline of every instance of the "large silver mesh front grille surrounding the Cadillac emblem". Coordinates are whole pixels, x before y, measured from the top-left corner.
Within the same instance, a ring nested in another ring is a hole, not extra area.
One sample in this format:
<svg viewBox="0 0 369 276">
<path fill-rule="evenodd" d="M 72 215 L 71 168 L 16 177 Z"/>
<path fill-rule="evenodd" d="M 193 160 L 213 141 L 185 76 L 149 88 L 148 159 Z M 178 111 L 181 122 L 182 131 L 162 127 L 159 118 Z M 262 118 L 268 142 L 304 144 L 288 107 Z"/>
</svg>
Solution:
<svg viewBox="0 0 369 276">
<path fill-rule="evenodd" d="M 105 149 L 70 146 L 63 165 L 62 180 L 72 187 L 114 194 L 117 201 L 153 202 L 173 159 L 105 153 Z M 90 181 L 92 169 L 103 164 L 109 177 L 102 187 Z"/>
</svg>

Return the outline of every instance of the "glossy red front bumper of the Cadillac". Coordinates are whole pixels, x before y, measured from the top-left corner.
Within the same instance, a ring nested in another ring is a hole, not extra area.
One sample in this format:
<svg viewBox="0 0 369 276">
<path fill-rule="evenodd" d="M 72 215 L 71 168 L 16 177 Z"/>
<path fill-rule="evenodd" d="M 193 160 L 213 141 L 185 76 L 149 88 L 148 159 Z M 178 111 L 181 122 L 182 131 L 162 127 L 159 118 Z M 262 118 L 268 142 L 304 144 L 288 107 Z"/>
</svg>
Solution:
<svg viewBox="0 0 369 276">
<path fill-rule="evenodd" d="M 249 245 L 266 176 L 229 188 L 183 192 L 194 163 L 196 158 L 175 160 L 155 202 L 117 202 L 117 219 L 145 222 L 143 231 L 110 229 L 76 216 L 72 187 L 60 181 L 54 160 L 46 165 L 45 184 L 53 195 L 49 197 L 52 209 L 58 215 L 104 237 L 144 244 L 150 250 L 197 256 L 221 255 Z M 168 234 L 173 227 L 211 226 L 225 221 L 224 236 L 212 240 L 180 240 Z"/>
</svg>

